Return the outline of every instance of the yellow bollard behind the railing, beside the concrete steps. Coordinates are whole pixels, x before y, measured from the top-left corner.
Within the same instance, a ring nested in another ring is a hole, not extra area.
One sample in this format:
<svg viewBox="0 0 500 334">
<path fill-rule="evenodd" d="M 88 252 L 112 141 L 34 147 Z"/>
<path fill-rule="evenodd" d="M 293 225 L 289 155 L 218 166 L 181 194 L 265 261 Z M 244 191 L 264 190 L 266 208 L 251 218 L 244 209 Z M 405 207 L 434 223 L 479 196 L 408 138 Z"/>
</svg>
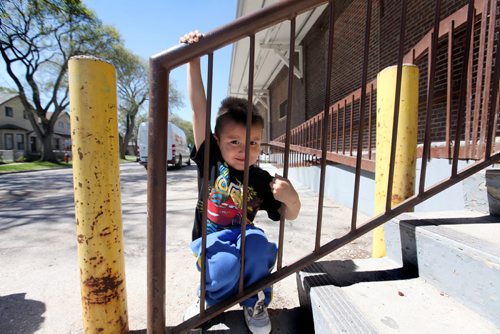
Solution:
<svg viewBox="0 0 500 334">
<path fill-rule="evenodd" d="M 403 65 L 398 119 L 396 158 L 391 205 L 415 193 L 415 166 L 418 128 L 418 67 Z M 385 212 L 391 158 L 397 66 L 387 67 L 377 76 L 377 146 L 375 161 L 375 214 Z M 372 256 L 386 255 L 384 227 L 373 230 Z"/>
</svg>

